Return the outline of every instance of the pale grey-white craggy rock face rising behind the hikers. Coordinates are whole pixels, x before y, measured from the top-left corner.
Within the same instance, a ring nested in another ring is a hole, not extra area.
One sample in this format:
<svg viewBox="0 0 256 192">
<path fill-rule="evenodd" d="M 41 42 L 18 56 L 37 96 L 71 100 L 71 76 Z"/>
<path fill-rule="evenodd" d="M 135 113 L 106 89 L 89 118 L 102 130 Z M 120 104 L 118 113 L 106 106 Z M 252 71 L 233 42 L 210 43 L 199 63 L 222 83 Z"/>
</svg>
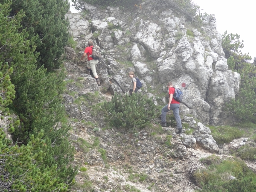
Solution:
<svg viewBox="0 0 256 192">
<path fill-rule="evenodd" d="M 70 21 L 70 33 L 80 39 L 79 47 L 84 48 L 90 39 L 99 43 L 99 39 L 95 39 L 90 32 L 101 33 L 104 28 L 101 46 L 108 52 L 106 58 L 111 60 L 108 67 L 116 75 L 121 75 L 125 81 L 128 71 L 134 70 L 152 87 L 163 87 L 172 82 L 183 91 L 181 111 L 184 114 L 193 114 L 205 124 L 219 125 L 225 122 L 227 116 L 223 113 L 223 107 L 238 92 L 240 75 L 228 70 L 215 18 L 204 17 L 199 30 L 188 25 L 184 17 L 175 17 L 172 11 L 150 13 L 151 16 L 147 18 L 145 15 L 140 17 L 141 13 L 138 12 L 128 22 L 125 15 L 129 15 L 129 12 L 111 7 L 102 12 L 95 6 L 85 6 L 90 11 L 91 23 L 79 14 L 66 15 Z M 154 16 L 159 17 L 157 23 L 150 18 Z M 116 28 L 108 29 L 108 22 Z M 186 35 L 188 29 L 193 36 Z M 157 64 L 157 72 L 151 70 L 148 56 L 145 55 L 149 55 Z M 113 64 L 117 63 L 112 62 L 114 60 L 132 61 L 134 68 L 129 66 L 127 71 L 119 69 L 121 65 Z M 160 84 L 154 84 L 154 79 L 159 79 Z M 108 81 L 107 78 L 105 80 Z M 116 90 L 122 93 L 126 90 L 125 86 L 128 87 L 128 84 L 115 81 L 111 85 L 112 92 Z"/>
</svg>

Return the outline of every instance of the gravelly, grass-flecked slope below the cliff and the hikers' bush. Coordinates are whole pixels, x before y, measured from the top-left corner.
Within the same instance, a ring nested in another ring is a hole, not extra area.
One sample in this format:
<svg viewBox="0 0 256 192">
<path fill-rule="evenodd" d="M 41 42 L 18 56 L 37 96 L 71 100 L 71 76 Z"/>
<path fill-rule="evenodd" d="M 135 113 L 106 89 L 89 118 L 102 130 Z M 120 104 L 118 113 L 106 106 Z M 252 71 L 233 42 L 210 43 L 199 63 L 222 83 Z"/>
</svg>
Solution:
<svg viewBox="0 0 256 192">
<path fill-rule="evenodd" d="M 157 124 L 138 132 L 105 127 L 103 115 L 100 110 L 94 113 L 93 106 L 100 108 L 99 103 L 109 101 L 110 92 L 100 91 L 95 79 L 84 73 L 83 63 L 67 61 L 65 67 L 64 99 L 73 127 L 70 140 L 76 148 L 74 165 L 87 169 L 76 176 L 74 192 L 193 192 L 199 189 L 193 173 L 205 168 L 201 158 L 212 154 L 221 159 L 232 157 L 228 155 L 230 146 L 218 148 L 209 128 L 191 116 L 183 116 L 183 125 L 188 124 L 184 134 Z M 189 129 L 194 133 L 188 134 Z M 233 145 L 246 143 L 243 139 Z M 254 163 L 247 165 L 254 170 Z"/>
</svg>

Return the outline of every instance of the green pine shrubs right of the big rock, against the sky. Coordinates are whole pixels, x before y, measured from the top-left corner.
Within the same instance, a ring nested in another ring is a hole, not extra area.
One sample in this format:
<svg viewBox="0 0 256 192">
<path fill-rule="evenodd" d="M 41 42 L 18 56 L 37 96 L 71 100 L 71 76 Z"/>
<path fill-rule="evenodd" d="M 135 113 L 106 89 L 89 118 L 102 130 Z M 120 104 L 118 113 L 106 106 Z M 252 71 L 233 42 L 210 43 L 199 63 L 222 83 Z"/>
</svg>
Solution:
<svg viewBox="0 0 256 192">
<path fill-rule="evenodd" d="M 222 35 L 222 47 L 230 70 L 241 75 L 239 93 L 227 104 L 227 111 L 238 120 L 256 122 L 256 67 L 249 63 L 251 57 L 243 54 L 240 35 L 227 32 Z"/>
</svg>

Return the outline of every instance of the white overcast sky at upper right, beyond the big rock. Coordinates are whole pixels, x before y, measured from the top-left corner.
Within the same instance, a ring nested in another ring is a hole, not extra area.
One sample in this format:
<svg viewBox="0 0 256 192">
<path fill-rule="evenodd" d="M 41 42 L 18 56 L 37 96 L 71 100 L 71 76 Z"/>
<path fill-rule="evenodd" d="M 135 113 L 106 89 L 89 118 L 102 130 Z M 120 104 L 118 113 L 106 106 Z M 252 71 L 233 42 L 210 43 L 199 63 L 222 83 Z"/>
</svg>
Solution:
<svg viewBox="0 0 256 192">
<path fill-rule="evenodd" d="M 202 13 L 214 14 L 217 30 L 240 35 L 243 53 L 256 57 L 256 0 L 193 0 Z"/>
</svg>

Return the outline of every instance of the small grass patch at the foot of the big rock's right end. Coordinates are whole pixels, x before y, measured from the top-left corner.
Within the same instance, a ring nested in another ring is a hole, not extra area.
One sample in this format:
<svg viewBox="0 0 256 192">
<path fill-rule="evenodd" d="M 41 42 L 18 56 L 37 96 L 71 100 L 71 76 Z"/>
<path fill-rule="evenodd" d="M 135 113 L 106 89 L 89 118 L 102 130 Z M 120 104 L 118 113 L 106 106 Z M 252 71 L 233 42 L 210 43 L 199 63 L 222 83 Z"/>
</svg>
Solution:
<svg viewBox="0 0 256 192">
<path fill-rule="evenodd" d="M 212 137 L 217 144 L 230 143 L 232 140 L 241 138 L 244 135 L 244 131 L 239 130 L 236 127 L 230 126 L 209 126 Z"/>
</svg>

